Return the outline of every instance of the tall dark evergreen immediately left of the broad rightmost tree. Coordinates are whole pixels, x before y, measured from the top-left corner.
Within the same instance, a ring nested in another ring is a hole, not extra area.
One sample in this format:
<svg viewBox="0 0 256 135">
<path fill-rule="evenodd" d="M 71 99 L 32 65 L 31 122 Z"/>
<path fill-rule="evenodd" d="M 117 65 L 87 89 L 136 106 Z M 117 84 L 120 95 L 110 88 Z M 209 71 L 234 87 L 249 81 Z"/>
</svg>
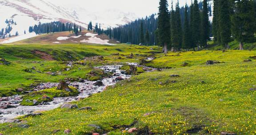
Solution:
<svg viewBox="0 0 256 135">
<path fill-rule="evenodd" d="M 220 32 L 220 44 L 225 48 L 228 47 L 228 42 L 231 36 L 231 20 L 230 20 L 230 1 L 229 0 L 219 0 L 218 1 L 218 23 Z"/>
</svg>

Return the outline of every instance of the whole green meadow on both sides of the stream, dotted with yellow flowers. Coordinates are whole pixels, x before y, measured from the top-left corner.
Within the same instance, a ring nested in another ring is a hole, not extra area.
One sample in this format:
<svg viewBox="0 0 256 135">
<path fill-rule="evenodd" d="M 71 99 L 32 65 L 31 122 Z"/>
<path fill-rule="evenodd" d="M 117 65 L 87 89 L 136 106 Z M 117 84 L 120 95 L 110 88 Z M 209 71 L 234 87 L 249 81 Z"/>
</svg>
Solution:
<svg viewBox="0 0 256 135">
<path fill-rule="evenodd" d="M 40 56 L 31 53 L 35 49 L 47 52 L 55 60 L 42 60 Z M 64 75 L 58 76 L 22 71 L 32 66 L 36 66 L 41 71 L 48 71 L 50 68 L 60 71 L 66 68 L 65 64 L 56 60 L 70 59 L 54 55 L 55 51 L 69 52 L 73 58 L 76 58 L 74 60 L 82 58 L 83 54 L 87 54 L 86 52 L 90 55 L 92 53 L 103 55 L 104 63 L 96 62 L 98 65 L 126 61 L 139 62 L 139 59 L 152 55 L 147 52 L 157 51 L 152 51 L 149 47 L 127 45 L 72 44 L 10 45 L 1 46 L 0 50 L 1 55 L 12 62 L 9 66 L 0 65 L 2 70 L 0 76 L 4 76 L 4 79 L 0 80 L 2 91 L 6 91 L 7 87 L 17 87 L 20 83 L 29 85 L 36 80 L 57 81 L 67 76 L 82 76 L 86 71 L 91 70 L 88 65 L 85 65 L 81 71 L 78 71 L 77 68 L 80 65 L 75 65 L 77 67 L 71 71 L 63 71 Z M 13 50 L 16 50 L 15 53 L 10 53 Z M 140 56 L 133 59 L 120 56 L 122 59 L 117 59 L 119 56 L 111 55 L 117 52 L 126 56 L 130 53 L 140 54 Z M 249 89 L 256 85 L 256 60 L 243 61 L 255 55 L 255 51 L 238 50 L 170 52 L 166 56 L 156 54 L 156 59 L 146 65 L 169 69 L 133 76 L 115 87 L 108 87 L 102 93 L 74 102 L 79 107 L 92 107 L 92 110 L 57 108 L 45 111 L 41 116 L 20 118 L 30 126 L 29 128 L 19 127 L 24 123 L 4 123 L 0 124 L 0 133 L 51 135 L 53 131 L 60 130 L 54 134 L 63 135 L 64 130 L 70 129 L 71 135 L 91 135 L 93 132 L 128 135 L 125 129 L 136 127 L 139 130 L 138 134 L 151 132 L 157 135 L 217 135 L 221 131 L 229 131 L 238 135 L 254 135 L 256 134 L 256 92 Z M 34 60 L 40 63 L 33 63 Z M 207 60 L 216 60 L 220 63 L 206 65 Z M 79 62 L 88 63 L 88 61 Z M 41 63 L 44 66 L 40 67 Z M 24 75 L 32 79 L 22 79 Z M 15 78 L 16 76 L 19 78 Z"/>
</svg>

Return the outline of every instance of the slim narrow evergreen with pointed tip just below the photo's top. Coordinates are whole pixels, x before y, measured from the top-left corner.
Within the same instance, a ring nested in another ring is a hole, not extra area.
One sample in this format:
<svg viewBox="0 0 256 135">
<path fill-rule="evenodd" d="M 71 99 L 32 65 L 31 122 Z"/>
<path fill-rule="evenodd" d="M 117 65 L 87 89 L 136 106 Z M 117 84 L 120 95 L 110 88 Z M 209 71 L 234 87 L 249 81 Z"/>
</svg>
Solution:
<svg viewBox="0 0 256 135">
<path fill-rule="evenodd" d="M 190 47 L 189 41 L 190 41 L 190 32 L 189 32 L 189 21 L 188 21 L 188 5 L 186 4 L 182 48 L 187 49 L 187 51 L 188 51 L 188 48 Z"/>
</svg>

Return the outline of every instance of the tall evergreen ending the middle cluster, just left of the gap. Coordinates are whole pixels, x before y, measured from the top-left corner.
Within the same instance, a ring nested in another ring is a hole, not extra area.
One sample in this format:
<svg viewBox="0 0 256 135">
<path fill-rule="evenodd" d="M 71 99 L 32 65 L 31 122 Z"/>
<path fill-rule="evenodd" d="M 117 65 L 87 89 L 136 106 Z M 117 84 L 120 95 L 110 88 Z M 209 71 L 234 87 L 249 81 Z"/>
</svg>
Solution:
<svg viewBox="0 0 256 135">
<path fill-rule="evenodd" d="M 203 2 L 203 12 L 201 14 L 201 27 L 200 27 L 200 45 L 207 48 L 207 40 L 209 39 L 210 24 L 208 16 L 207 0 Z"/>
</svg>

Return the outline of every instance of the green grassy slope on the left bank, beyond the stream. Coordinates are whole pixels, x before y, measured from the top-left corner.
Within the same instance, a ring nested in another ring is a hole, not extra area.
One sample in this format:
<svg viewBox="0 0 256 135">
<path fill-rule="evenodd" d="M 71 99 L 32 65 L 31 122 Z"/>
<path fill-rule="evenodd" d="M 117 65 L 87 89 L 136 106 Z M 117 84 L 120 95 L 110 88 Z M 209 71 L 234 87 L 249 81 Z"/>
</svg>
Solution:
<svg viewBox="0 0 256 135">
<path fill-rule="evenodd" d="M 85 75 L 93 69 L 92 66 L 96 65 L 139 62 L 140 56 L 135 56 L 134 59 L 127 59 L 126 56 L 131 53 L 147 56 L 152 52 L 150 48 L 152 47 L 136 45 L 130 47 L 126 44 L 118 46 L 87 44 L 0 45 L 0 57 L 11 62 L 9 65 L 0 64 L 0 96 L 16 94 L 17 88 L 29 90 L 32 83 L 59 82 L 60 79 L 64 78 L 85 78 Z M 157 49 L 156 47 L 153 48 Z M 115 53 L 124 56 L 111 55 Z M 74 67 L 66 71 L 67 68 L 70 68 L 67 66 L 67 61 L 78 61 L 83 60 L 84 57 L 99 55 L 104 56 L 104 60 L 97 62 L 85 60 L 77 62 L 77 64 L 74 62 Z M 49 72 L 56 74 L 52 75 Z"/>
</svg>

